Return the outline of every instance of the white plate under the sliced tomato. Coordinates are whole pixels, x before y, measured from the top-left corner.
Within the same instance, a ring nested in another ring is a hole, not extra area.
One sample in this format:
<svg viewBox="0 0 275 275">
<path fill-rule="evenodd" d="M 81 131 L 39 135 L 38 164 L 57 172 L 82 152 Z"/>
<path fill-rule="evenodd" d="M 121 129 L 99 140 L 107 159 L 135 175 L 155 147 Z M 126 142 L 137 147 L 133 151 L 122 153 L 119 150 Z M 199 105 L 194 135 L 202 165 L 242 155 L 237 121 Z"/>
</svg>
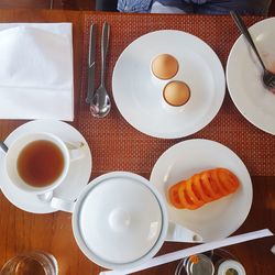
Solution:
<svg viewBox="0 0 275 275">
<path fill-rule="evenodd" d="M 216 167 L 238 176 L 241 187 L 234 194 L 197 210 L 176 209 L 168 202 L 169 186 Z M 252 204 L 252 183 L 243 162 L 224 145 L 209 140 L 188 140 L 168 148 L 154 165 L 150 182 L 166 198 L 169 220 L 199 233 L 205 242 L 233 233 L 246 219 Z"/>
</svg>

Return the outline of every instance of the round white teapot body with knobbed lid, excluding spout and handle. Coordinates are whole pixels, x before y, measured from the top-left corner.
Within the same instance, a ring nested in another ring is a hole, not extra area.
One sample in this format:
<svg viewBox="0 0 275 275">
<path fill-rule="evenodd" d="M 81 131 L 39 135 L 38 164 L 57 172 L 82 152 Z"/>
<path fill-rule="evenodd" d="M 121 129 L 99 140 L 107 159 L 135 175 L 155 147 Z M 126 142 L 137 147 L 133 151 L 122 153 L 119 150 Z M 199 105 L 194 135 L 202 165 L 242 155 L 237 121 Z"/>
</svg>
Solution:
<svg viewBox="0 0 275 275">
<path fill-rule="evenodd" d="M 81 193 L 73 229 L 91 261 L 107 268 L 128 268 L 161 249 L 167 213 L 153 184 L 132 173 L 113 172 L 96 178 Z"/>
</svg>

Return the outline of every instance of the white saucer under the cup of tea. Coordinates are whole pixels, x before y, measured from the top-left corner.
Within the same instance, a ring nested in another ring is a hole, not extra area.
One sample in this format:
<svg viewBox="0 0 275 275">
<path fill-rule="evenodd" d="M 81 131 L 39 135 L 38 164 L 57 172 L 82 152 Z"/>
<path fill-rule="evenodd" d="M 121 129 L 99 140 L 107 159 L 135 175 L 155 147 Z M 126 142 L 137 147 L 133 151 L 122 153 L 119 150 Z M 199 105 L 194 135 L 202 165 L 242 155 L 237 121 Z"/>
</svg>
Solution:
<svg viewBox="0 0 275 275">
<path fill-rule="evenodd" d="M 88 184 L 90 173 L 91 173 L 91 154 L 87 142 L 84 136 L 69 124 L 55 121 L 55 120 L 35 120 L 28 122 L 18 129 L 15 129 L 9 136 L 6 139 L 4 143 L 9 146 L 16 138 L 22 134 L 46 131 L 53 134 L 56 134 L 62 140 L 67 142 L 85 142 L 85 157 L 73 162 L 70 164 L 70 169 L 65 178 L 64 183 L 54 191 L 54 196 L 67 199 L 75 200 L 81 189 Z M 9 184 L 8 175 L 4 170 L 4 153 L 0 152 L 0 185 L 1 190 L 4 196 L 18 208 L 33 213 L 50 213 L 57 211 L 53 209 L 47 204 L 44 204 L 35 195 L 30 195 Z"/>
</svg>

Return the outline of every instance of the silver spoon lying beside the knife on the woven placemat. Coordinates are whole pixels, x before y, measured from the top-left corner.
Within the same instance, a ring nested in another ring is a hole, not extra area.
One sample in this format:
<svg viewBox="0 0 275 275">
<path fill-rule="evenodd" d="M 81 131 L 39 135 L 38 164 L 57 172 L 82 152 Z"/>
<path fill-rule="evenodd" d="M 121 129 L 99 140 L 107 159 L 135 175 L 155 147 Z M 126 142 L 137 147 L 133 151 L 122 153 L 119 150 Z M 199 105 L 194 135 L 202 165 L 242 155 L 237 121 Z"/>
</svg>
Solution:
<svg viewBox="0 0 275 275">
<path fill-rule="evenodd" d="M 90 111 L 94 117 L 105 118 L 111 109 L 111 100 L 105 86 L 106 56 L 109 45 L 110 25 L 105 22 L 101 36 L 101 81 L 90 103 Z"/>
</svg>

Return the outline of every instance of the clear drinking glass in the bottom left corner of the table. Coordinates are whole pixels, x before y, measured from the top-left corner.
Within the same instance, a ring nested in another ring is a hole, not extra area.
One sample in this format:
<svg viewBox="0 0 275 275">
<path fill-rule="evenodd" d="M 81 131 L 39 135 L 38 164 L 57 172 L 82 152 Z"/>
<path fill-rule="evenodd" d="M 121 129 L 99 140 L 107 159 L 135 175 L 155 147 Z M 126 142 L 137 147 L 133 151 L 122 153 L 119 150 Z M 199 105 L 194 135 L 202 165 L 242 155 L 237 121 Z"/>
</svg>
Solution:
<svg viewBox="0 0 275 275">
<path fill-rule="evenodd" d="M 42 251 L 24 253 L 10 258 L 0 275 L 57 275 L 55 257 Z"/>
</svg>

